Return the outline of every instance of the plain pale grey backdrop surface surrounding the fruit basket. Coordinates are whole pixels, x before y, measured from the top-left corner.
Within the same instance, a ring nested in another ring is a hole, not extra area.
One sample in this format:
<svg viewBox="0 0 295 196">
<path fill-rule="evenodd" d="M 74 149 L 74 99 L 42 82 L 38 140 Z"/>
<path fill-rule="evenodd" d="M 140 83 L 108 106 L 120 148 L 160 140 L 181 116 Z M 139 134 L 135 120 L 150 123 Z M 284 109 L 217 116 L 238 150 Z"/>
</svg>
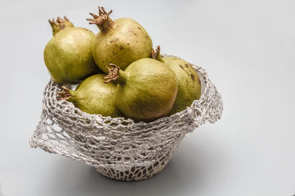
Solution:
<svg viewBox="0 0 295 196">
<path fill-rule="evenodd" d="M 49 80 L 47 19 L 66 15 L 97 33 L 85 19 L 98 5 L 113 9 L 112 19 L 138 21 L 163 53 L 204 67 L 224 98 L 222 119 L 184 138 L 170 164 L 148 180 L 111 180 L 28 144 Z M 294 0 L 1 0 L 2 194 L 295 195 L 294 10 Z"/>
</svg>

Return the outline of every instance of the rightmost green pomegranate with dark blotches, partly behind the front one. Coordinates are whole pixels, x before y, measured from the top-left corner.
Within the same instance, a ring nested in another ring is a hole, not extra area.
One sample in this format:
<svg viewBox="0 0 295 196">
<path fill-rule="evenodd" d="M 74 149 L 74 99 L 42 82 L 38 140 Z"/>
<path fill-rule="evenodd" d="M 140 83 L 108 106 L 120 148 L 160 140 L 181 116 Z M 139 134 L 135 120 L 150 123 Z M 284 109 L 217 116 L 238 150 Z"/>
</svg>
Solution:
<svg viewBox="0 0 295 196">
<path fill-rule="evenodd" d="M 197 71 L 186 61 L 175 57 L 161 57 L 160 46 L 156 52 L 152 52 L 152 58 L 165 63 L 171 68 L 178 78 L 178 92 L 172 110 L 167 116 L 171 116 L 191 106 L 192 102 L 201 97 L 201 80 Z"/>
</svg>

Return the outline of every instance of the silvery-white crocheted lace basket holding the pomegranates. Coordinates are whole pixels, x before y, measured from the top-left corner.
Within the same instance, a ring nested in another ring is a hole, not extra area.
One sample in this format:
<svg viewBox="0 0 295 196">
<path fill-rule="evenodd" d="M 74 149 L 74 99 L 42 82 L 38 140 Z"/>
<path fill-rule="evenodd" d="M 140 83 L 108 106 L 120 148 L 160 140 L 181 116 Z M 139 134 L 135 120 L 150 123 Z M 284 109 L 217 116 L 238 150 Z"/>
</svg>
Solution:
<svg viewBox="0 0 295 196">
<path fill-rule="evenodd" d="M 60 85 L 50 80 L 30 146 L 82 161 L 117 180 L 142 180 L 161 172 L 187 133 L 221 118 L 221 95 L 207 72 L 190 64 L 201 79 L 201 98 L 171 117 L 150 123 L 82 112 L 71 102 L 58 100 Z"/>
</svg>

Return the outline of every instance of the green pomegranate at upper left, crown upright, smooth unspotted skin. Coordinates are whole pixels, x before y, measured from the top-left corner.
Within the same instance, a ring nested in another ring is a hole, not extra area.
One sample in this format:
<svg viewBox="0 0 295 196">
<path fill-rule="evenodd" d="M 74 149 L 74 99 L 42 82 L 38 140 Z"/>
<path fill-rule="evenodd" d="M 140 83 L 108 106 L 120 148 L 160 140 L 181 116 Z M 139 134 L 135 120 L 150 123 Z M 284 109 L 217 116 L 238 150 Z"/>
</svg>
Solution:
<svg viewBox="0 0 295 196">
<path fill-rule="evenodd" d="M 44 49 L 45 65 L 56 83 L 76 83 L 99 73 L 91 54 L 95 35 L 89 29 L 74 27 L 64 17 L 49 23 L 53 37 Z"/>
</svg>

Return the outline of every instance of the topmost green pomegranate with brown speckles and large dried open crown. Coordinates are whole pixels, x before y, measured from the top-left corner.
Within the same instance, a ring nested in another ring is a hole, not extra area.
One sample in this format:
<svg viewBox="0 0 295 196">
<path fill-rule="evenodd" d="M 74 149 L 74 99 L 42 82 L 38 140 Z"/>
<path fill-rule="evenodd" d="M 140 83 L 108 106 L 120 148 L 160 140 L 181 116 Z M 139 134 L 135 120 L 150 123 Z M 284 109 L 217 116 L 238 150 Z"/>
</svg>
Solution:
<svg viewBox="0 0 295 196">
<path fill-rule="evenodd" d="M 100 29 L 92 44 L 92 54 L 103 72 L 108 73 L 109 63 L 120 65 L 124 71 L 134 61 L 149 57 L 152 41 L 144 27 L 129 18 L 112 21 L 112 10 L 107 13 L 103 7 L 98 8 L 99 15 L 90 13 L 94 19 L 87 20 Z"/>
</svg>

